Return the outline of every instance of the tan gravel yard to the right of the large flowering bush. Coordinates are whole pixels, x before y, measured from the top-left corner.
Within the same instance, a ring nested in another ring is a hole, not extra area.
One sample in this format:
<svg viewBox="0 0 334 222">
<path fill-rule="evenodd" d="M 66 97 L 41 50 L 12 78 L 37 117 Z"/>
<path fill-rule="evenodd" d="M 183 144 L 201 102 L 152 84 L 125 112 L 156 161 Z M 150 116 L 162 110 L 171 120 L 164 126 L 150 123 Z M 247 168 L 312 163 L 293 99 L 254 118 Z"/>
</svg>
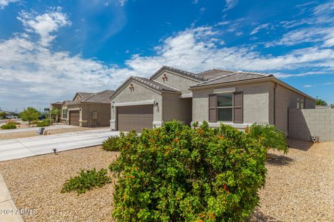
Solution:
<svg viewBox="0 0 334 222">
<path fill-rule="evenodd" d="M 289 141 L 270 151 L 267 181 L 252 221 L 334 221 L 334 142 Z"/>
</svg>

